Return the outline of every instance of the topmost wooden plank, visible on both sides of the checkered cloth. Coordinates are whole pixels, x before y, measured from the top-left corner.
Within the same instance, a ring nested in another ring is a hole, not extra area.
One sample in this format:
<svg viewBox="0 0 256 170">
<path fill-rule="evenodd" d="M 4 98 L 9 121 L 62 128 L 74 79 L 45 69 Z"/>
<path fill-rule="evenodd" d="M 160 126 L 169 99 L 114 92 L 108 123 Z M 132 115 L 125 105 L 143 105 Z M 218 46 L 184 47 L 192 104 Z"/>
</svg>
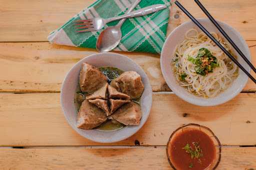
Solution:
<svg viewBox="0 0 256 170">
<path fill-rule="evenodd" d="M 173 0 L 172 0 L 173 1 Z M 195 17 L 205 17 L 192 0 L 179 0 Z M 47 35 L 94 0 L 0 0 L 0 41 L 47 41 Z M 201 0 L 210 13 L 241 32 L 246 40 L 256 40 L 255 0 Z M 219 5 L 221 4 L 221 5 Z M 188 18 L 171 7 L 168 32 Z M 242 13 L 242 14 L 241 14 Z M 174 18 L 174 15 L 176 18 Z"/>
</svg>

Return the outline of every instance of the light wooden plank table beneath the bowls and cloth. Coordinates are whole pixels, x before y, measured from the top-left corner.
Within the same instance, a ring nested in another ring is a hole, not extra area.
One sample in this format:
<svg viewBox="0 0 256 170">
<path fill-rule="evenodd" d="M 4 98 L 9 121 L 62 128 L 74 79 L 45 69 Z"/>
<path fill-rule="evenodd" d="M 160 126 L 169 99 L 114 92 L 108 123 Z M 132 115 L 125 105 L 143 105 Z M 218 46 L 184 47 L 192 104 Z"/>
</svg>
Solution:
<svg viewBox="0 0 256 170">
<path fill-rule="evenodd" d="M 93 1 L 0 0 L 0 169 L 167 170 L 170 134 L 182 124 L 197 123 L 222 144 L 219 170 L 256 170 L 256 86 L 249 80 L 225 104 L 194 106 L 170 92 L 159 55 L 122 52 L 144 69 L 154 92 L 151 114 L 139 132 L 99 144 L 72 130 L 60 108 L 61 82 L 74 63 L 97 52 L 52 45 L 46 37 Z M 205 17 L 193 0 L 179 1 L 194 16 Z M 256 65 L 256 0 L 201 1 L 242 34 Z M 172 5 L 168 33 L 187 20 Z"/>
</svg>

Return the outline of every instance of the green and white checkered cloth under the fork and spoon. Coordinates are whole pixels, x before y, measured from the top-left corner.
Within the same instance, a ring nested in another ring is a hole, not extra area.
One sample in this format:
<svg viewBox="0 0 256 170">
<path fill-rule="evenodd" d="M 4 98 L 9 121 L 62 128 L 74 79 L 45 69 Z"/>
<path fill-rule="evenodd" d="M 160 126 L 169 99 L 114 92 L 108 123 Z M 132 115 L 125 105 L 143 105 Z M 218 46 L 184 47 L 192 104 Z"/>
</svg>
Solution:
<svg viewBox="0 0 256 170">
<path fill-rule="evenodd" d="M 135 0 L 96 0 L 88 8 L 73 16 L 60 28 L 51 32 L 48 40 L 51 43 L 85 48 L 95 48 L 99 33 L 75 32 L 73 20 L 92 17 L 109 18 L 122 15 Z M 141 0 L 134 10 L 153 5 L 165 4 L 168 8 L 145 16 L 126 19 L 121 27 L 122 39 L 115 51 L 137 51 L 159 54 L 166 38 L 170 0 Z M 117 24 L 118 21 L 108 23 L 107 26 Z"/>
</svg>

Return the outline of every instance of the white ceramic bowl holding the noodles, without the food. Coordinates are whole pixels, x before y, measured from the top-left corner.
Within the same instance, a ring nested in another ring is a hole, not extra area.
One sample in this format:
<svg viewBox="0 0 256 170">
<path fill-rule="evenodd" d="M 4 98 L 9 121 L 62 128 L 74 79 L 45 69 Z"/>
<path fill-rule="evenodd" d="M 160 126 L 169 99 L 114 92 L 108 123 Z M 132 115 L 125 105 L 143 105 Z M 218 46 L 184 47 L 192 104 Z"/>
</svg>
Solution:
<svg viewBox="0 0 256 170">
<path fill-rule="evenodd" d="M 216 32 L 220 36 L 221 33 L 217 30 L 217 28 L 210 22 L 208 19 L 197 19 L 209 32 Z M 220 26 L 226 31 L 226 33 L 230 36 L 230 38 L 234 41 L 234 43 L 240 48 L 243 54 L 248 57 L 250 60 L 250 52 L 246 42 L 243 40 L 242 36 L 239 32 L 237 32 L 234 28 L 227 25 L 226 23 L 218 21 Z M 184 40 L 185 32 L 191 28 L 197 29 L 199 32 L 201 30 L 192 22 L 188 21 L 185 22 L 178 27 L 176 27 L 170 35 L 167 37 L 162 51 L 161 51 L 161 71 L 163 77 L 169 86 L 169 88 L 181 99 L 185 100 L 194 105 L 198 106 L 215 106 L 222 103 L 225 103 L 235 97 L 237 94 L 241 92 L 245 84 L 247 83 L 248 77 L 245 73 L 243 73 L 239 69 L 239 76 L 237 79 L 232 83 L 232 85 L 226 89 L 225 91 L 221 92 L 219 95 L 213 98 L 204 99 L 203 97 L 197 97 L 189 92 L 187 92 L 183 87 L 179 86 L 176 78 L 174 77 L 171 60 L 174 56 L 174 51 L 176 46 Z M 237 61 L 249 72 L 249 66 L 244 62 L 244 60 L 237 54 L 235 50 L 232 51 L 237 56 Z"/>
</svg>

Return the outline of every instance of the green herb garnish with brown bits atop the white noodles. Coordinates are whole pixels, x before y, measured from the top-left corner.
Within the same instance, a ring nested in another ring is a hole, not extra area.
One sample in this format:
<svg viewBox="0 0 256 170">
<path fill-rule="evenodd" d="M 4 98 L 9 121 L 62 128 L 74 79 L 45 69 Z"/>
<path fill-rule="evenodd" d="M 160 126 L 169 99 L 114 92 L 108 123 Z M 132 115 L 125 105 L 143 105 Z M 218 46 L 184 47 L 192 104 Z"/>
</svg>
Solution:
<svg viewBox="0 0 256 170">
<path fill-rule="evenodd" d="M 217 58 L 206 48 L 200 48 L 195 58 L 188 56 L 187 60 L 196 65 L 194 67 L 196 74 L 202 76 L 213 72 L 213 68 L 219 67 Z"/>
</svg>

